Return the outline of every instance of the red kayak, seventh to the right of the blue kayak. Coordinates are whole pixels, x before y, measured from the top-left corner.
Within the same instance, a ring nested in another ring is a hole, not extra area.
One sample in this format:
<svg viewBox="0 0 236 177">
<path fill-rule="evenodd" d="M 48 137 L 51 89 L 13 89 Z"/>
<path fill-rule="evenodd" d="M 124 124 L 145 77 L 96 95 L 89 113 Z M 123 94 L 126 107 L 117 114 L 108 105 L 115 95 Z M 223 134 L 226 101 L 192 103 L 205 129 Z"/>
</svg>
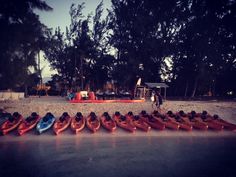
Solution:
<svg viewBox="0 0 236 177">
<path fill-rule="evenodd" d="M 162 121 L 156 119 L 154 115 L 148 115 L 146 111 L 142 111 L 139 116 L 140 119 L 149 124 L 152 128 L 158 130 L 165 129 L 165 124 Z"/>
</svg>

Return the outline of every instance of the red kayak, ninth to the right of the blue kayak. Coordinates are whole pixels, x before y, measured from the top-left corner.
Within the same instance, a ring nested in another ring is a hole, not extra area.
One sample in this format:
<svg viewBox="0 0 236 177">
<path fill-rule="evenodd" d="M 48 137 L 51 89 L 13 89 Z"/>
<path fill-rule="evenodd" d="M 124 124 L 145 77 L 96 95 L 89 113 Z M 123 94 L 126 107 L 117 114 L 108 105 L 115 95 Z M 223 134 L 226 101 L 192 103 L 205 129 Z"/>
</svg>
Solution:
<svg viewBox="0 0 236 177">
<path fill-rule="evenodd" d="M 182 119 L 179 115 L 174 114 L 172 111 L 168 111 L 166 115 L 173 122 L 178 123 L 180 129 L 186 131 L 191 131 L 193 129 L 193 126 L 190 123 Z"/>
</svg>

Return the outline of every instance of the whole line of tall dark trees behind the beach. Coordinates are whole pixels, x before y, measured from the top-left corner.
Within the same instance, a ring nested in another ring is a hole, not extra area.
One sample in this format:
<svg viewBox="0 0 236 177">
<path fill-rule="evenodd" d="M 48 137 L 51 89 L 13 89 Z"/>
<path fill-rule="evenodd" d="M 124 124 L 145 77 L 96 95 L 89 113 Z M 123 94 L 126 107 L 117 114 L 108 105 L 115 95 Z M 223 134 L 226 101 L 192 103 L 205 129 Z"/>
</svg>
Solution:
<svg viewBox="0 0 236 177">
<path fill-rule="evenodd" d="M 43 1 L 11 2 L 0 7 L 0 89 L 38 82 L 41 50 L 58 71 L 54 81 L 73 88 L 112 80 L 133 89 L 141 77 L 167 82 L 173 96 L 236 95 L 236 0 L 112 0 L 106 17 L 103 2 L 87 16 L 86 4 L 72 4 L 66 32 L 39 22 L 32 9 L 51 9 Z"/>
</svg>

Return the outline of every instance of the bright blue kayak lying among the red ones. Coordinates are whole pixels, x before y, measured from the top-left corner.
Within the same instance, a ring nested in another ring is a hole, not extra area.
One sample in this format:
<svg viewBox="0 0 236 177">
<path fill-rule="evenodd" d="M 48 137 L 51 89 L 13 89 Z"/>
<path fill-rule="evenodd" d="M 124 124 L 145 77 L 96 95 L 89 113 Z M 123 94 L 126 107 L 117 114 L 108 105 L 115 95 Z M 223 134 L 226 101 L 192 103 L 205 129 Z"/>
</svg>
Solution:
<svg viewBox="0 0 236 177">
<path fill-rule="evenodd" d="M 48 112 L 37 124 L 36 129 L 39 134 L 51 128 L 55 122 L 55 116 Z"/>
</svg>

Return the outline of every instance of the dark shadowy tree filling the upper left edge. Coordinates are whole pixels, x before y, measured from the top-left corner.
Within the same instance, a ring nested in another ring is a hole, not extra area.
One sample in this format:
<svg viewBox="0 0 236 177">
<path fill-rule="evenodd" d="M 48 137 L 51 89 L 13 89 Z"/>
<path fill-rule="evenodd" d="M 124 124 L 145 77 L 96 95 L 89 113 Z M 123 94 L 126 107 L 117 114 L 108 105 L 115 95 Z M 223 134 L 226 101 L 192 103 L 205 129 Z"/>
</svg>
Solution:
<svg viewBox="0 0 236 177">
<path fill-rule="evenodd" d="M 29 84 L 29 76 L 33 74 L 30 67 L 36 67 L 37 41 L 45 28 L 34 9 L 51 10 L 51 7 L 41 0 L 1 2 L 0 89 L 23 85 L 27 88 Z"/>
</svg>

